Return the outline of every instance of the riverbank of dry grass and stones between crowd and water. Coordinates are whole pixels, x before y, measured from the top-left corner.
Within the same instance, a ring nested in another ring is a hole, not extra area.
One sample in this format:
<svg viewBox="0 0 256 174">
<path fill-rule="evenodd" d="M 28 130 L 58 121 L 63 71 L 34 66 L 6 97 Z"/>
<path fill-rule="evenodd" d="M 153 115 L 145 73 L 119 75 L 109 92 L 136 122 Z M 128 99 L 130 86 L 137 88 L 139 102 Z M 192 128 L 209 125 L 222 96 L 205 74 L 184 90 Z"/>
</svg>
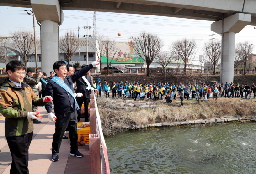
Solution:
<svg viewBox="0 0 256 174">
<path fill-rule="evenodd" d="M 254 121 L 256 99 L 219 98 L 197 104 L 196 100 L 133 101 L 131 99 L 97 98 L 101 124 L 105 136 L 129 129 L 177 127 L 196 124 L 214 124 L 240 120 Z"/>
</svg>

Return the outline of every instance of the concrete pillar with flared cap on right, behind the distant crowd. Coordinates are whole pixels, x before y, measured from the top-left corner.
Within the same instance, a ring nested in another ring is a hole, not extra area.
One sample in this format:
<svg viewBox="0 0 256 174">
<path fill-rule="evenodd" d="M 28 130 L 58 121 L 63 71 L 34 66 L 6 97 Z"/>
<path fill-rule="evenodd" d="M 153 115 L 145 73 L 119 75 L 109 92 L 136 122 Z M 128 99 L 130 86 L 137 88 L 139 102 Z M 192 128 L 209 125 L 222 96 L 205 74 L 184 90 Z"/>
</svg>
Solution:
<svg viewBox="0 0 256 174">
<path fill-rule="evenodd" d="M 234 81 L 235 33 L 239 33 L 251 22 L 250 14 L 236 13 L 211 24 L 211 30 L 222 34 L 222 57 L 220 82 Z"/>
</svg>

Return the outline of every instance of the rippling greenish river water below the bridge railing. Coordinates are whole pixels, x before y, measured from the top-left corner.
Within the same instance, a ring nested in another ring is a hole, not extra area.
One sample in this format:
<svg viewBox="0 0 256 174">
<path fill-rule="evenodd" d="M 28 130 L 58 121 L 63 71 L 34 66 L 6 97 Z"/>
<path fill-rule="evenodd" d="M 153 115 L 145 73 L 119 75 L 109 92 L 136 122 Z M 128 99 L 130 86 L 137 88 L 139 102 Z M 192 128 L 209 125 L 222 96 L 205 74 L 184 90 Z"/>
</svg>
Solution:
<svg viewBox="0 0 256 174">
<path fill-rule="evenodd" d="M 256 123 L 151 128 L 105 140 L 111 174 L 256 174 Z"/>
</svg>

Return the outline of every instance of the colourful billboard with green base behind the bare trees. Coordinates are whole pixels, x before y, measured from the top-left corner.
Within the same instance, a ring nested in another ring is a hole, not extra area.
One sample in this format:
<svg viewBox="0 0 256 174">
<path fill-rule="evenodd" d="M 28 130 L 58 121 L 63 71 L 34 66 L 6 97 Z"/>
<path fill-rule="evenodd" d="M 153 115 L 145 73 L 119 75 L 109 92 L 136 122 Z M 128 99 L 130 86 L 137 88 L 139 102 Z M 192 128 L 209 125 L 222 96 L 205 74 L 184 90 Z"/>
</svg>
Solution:
<svg viewBox="0 0 256 174">
<path fill-rule="evenodd" d="M 144 63 L 137 53 L 134 53 L 131 42 L 114 42 L 118 51 L 108 57 L 108 63 Z M 107 63 L 106 55 L 101 55 L 101 63 Z"/>
</svg>

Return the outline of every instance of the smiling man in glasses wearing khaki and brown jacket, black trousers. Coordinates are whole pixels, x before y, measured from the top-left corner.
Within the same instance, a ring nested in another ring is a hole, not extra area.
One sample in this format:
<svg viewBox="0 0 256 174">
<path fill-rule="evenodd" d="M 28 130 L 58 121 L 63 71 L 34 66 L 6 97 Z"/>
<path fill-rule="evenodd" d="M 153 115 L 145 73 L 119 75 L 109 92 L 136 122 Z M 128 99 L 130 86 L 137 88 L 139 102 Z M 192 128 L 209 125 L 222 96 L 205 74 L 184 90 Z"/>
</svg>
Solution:
<svg viewBox="0 0 256 174">
<path fill-rule="evenodd" d="M 50 96 L 40 99 L 23 83 L 26 72 L 21 61 L 10 61 L 6 72 L 9 77 L 0 86 L 0 113 L 5 117 L 5 137 L 12 157 L 10 174 L 28 174 L 33 119 L 40 119 L 32 112 L 32 105 L 43 106 L 47 104 L 45 98 Z"/>
</svg>

